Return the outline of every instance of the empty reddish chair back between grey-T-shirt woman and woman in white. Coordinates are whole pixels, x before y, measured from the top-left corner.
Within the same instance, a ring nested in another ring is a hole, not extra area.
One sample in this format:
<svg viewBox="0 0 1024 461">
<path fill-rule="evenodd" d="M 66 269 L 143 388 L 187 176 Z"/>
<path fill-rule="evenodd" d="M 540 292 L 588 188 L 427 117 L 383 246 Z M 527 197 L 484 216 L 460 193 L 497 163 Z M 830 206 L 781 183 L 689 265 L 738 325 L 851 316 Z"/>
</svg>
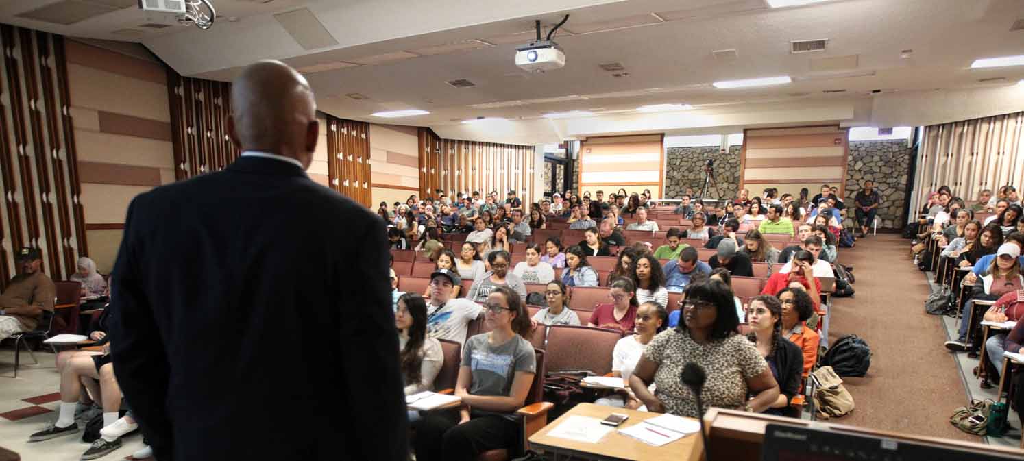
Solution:
<svg viewBox="0 0 1024 461">
<path fill-rule="evenodd" d="M 591 327 L 548 327 L 548 369 L 587 370 L 598 376 L 611 372 L 611 351 L 622 338 L 617 331 Z"/>
</svg>

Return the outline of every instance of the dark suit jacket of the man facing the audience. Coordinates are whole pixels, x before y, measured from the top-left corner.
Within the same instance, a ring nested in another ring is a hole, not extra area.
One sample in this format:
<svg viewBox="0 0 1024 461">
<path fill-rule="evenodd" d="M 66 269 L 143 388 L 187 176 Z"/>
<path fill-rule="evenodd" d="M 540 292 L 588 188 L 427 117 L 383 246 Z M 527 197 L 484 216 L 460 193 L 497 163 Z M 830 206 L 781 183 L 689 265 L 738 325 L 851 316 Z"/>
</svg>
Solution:
<svg viewBox="0 0 1024 461">
<path fill-rule="evenodd" d="M 157 459 L 407 459 L 383 221 L 243 157 L 128 208 L 118 381 Z"/>
</svg>

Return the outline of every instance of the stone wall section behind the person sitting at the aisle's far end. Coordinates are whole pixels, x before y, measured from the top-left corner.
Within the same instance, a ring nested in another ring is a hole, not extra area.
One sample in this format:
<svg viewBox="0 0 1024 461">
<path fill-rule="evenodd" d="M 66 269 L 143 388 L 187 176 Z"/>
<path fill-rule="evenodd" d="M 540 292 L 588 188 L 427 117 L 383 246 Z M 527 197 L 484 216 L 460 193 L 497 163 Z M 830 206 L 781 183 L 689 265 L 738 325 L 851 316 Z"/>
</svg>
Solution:
<svg viewBox="0 0 1024 461">
<path fill-rule="evenodd" d="M 851 141 L 850 158 L 847 159 L 846 197 L 847 206 L 854 207 L 853 198 L 867 179 L 874 181 L 874 190 L 882 196 L 879 207 L 879 227 L 903 228 L 905 219 L 903 207 L 906 205 L 906 177 L 910 169 L 913 149 L 906 146 L 906 140 Z M 846 220 L 854 225 L 853 214 Z"/>
</svg>

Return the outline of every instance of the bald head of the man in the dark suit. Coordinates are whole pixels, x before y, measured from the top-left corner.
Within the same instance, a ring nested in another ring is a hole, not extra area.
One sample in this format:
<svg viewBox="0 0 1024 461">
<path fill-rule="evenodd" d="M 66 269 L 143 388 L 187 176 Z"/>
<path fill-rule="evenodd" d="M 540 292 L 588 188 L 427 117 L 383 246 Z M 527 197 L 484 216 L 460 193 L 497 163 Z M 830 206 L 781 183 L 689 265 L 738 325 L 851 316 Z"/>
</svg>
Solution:
<svg viewBox="0 0 1024 461">
<path fill-rule="evenodd" d="M 319 125 L 309 83 L 276 60 L 249 66 L 231 86 L 228 135 L 242 151 L 298 159 L 309 167 Z"/>
</svg>

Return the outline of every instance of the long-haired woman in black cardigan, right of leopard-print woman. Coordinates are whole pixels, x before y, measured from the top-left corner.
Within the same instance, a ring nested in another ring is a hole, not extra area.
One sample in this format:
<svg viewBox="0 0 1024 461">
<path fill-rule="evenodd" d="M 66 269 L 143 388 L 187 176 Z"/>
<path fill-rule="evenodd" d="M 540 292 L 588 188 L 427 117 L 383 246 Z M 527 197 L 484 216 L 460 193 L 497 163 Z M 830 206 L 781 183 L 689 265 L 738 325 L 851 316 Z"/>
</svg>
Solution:
<svg viewBox="0 0 1024 461">
<path fill-rule="evenodd" d="M 746 339 L 758 348 L 758 353 L 768 362 L 779 394 L 768 406 L 769 415 L 791 416 L 790 403 L 800 393 L 800 377 L 804 369 L 804 357 L 800 347 L 782 337 L 782 303 L 771 295 L 761 295 L 751 301 L 746 308 L 746 324 L 751 332 Z"/>
</svg>

